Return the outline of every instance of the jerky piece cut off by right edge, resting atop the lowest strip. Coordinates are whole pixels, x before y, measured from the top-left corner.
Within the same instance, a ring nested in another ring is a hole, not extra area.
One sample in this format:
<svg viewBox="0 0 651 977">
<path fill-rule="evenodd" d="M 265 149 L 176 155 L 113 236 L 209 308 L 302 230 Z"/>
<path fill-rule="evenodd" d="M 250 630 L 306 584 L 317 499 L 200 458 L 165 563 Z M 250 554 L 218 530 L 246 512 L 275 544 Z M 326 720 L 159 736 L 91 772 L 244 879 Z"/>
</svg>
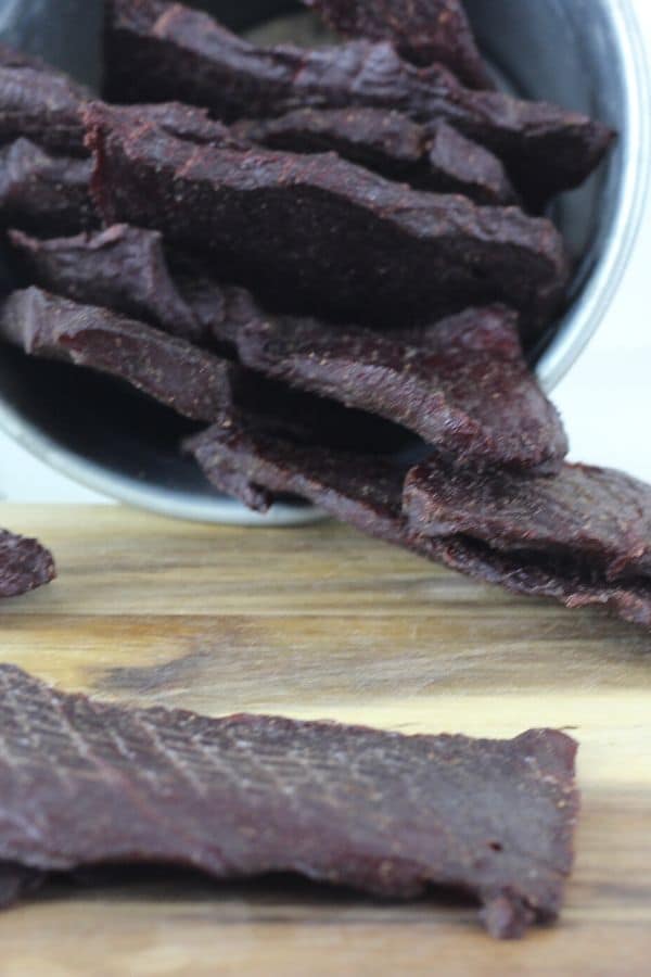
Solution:
<svg viewBox="0 0 651 977">
<path fill-rule="evenodd" d="M 413 471 L 405 506 L 429 536 L 462 534 L 526 559 L 548 555 L 608 583 L 651 580 L 651 486 L 623 472 L 563 466 L 553 479 Z"/>
</svg>

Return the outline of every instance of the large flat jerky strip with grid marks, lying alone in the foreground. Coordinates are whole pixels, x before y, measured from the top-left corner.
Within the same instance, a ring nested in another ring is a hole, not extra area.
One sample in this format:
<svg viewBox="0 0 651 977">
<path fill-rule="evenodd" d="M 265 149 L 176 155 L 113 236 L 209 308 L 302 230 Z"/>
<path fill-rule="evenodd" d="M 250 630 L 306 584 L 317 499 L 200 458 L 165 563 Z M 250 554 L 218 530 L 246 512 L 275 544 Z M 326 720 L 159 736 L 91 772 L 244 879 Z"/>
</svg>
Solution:
<svg viewBox="0 0 651 977">
<path fill-rule="evenodd" d="M 562 733 L 473 740 L 127 710 L 11 665 L 0 710 L 7 862 L 290 871 L 398 898 L 461 886 L 499 937 L 559 912 L 578 808 Z"/>
</svg>

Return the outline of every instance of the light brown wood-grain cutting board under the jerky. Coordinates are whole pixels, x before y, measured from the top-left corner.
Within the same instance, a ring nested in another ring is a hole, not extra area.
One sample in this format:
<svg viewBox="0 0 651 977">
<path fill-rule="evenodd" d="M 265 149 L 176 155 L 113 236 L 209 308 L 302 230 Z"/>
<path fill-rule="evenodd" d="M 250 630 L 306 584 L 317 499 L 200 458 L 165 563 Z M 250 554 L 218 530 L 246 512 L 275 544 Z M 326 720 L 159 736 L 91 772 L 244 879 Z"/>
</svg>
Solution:
<svg viewBox="0 0 651 977">
<path fill-rule="evenodd" d="M 166 874 L 50 885 L 0 917 L 2 977 L 651 973 L 651 637 L 508 597 L 332 523 L 206 528 L 0 506 L 55 584 L 0 607 L 2 659 L 65 689 L 221 714 L 580 741 L 561 923 L 496 943 L 471 906 Z M 1 703 L 0 703 L 1 719 Z"/>
</svg>

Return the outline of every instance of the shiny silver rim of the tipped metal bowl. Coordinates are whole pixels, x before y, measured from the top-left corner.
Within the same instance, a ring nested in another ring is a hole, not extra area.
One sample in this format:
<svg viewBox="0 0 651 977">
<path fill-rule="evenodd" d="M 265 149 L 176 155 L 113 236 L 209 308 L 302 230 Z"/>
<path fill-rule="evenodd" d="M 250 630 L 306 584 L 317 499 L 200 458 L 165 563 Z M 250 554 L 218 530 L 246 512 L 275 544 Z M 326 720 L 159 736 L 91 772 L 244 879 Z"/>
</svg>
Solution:
<svg viewBox="0 0 651 977">
<path fill-rule="evenodd" d="M 617 37 L 626 101 L 621 144 L 622 179 L 604 253 L 584 291 L 567 313 L 565 329 L 536 365 L 538 379 L 551 392 L 567 375 L 595 335 L 612 304 L 637 240 L 651 177 L 651 85 L 646 45 L 633 0 L 611 0 L 609 13 Z M 235 499 L 151 484 L 110 471 L 63 447 L 27 421 L 0 395 L 0 429 L 61 474 L 116 502 L 194 522 L 246 526 L 305 525 L 327 518 L 314 506 L 277 503 L 265 515 Z"/>
</svg>

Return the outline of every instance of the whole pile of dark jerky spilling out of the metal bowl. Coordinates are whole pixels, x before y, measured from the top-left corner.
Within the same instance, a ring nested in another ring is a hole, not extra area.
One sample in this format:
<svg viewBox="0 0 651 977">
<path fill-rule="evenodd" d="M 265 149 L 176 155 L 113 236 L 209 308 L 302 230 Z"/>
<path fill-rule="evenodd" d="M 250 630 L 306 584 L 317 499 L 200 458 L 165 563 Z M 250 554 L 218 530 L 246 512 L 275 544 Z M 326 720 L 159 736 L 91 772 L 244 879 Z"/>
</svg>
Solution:
<svg viewBox="0 0 651 977">
<path fill-rule="evenodd" d="M 106 101 L 0 51 L 0 333 L 203 424 L 258 511 L 651 625 L 651 490 L 564 460 L 523 353 L 572 271 L 540 215 L 614 134 L 495 90 L 459 0 L 305 2 L 341 45 L 111 0 Z"/>
</svg>

